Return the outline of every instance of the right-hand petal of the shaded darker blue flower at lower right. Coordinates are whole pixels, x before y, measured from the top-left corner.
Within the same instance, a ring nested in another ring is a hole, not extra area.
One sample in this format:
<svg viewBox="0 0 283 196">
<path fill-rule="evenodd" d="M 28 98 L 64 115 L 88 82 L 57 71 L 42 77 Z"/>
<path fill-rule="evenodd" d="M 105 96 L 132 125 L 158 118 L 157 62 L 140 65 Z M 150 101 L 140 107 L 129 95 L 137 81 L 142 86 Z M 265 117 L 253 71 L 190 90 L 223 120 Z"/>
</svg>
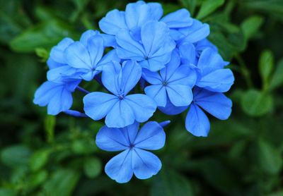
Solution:
<svg viewBox="0 0 283 196">
<path fill-rule="evenodd" d="M 194 101 L 195 104 L 201 106 L 202 109 L 220 120 L 226 120 L 231 115 L 231 99 L 223 93 L 197 88 L 194 90 Z"/>
</svg>

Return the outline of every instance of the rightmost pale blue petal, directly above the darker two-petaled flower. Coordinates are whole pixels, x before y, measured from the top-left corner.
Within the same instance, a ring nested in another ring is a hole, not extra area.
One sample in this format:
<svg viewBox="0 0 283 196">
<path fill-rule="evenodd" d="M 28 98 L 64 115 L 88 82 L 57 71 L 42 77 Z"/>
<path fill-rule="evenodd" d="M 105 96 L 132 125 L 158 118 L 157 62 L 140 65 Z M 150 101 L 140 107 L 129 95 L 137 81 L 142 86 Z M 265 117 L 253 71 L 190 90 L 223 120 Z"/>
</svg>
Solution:
<svg viewBox="0 0 283 196">
<path fill-rule="evenodd" d="M 196 85 L 213 92 L 227 92 L 233 85 L 233 81 L 232 71 L 224 68 L 202 76 L 202 79 Z"/>
</svg>

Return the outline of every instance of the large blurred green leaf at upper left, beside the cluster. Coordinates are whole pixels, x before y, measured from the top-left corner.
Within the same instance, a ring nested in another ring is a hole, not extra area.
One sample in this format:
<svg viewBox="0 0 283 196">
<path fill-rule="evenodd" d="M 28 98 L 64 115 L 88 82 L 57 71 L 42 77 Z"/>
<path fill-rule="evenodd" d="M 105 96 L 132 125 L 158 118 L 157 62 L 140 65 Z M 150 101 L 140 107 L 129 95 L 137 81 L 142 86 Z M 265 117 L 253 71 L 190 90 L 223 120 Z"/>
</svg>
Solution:
<svg viewBox="0 0 283 196">
<path fill-rule="evenodd" d="M 10 46 L 13 51 L 33 52 L 38 47 L 50 49 L 64 37 L 75 37 L 71 27 L 58 20 L 49 20 L 28 28 L 15 37 Z"/>
</svg>

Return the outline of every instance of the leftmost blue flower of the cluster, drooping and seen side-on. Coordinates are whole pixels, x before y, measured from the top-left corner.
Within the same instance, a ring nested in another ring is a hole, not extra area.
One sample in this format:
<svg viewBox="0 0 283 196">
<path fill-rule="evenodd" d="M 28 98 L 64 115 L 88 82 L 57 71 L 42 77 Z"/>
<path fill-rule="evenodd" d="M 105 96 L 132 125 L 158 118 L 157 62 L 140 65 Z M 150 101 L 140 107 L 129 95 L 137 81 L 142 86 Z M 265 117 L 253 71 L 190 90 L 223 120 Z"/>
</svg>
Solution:
<svg viewBox="0 0 283 196">
<path fill-rule="evenodd" d="M 67 80 L 61 82 L 44 82 L 35 92 L 33 103 L 47 106 L 47 114 L 57 115 L 71 108 L 74 92 L 81 80 Z"/>
</svg>

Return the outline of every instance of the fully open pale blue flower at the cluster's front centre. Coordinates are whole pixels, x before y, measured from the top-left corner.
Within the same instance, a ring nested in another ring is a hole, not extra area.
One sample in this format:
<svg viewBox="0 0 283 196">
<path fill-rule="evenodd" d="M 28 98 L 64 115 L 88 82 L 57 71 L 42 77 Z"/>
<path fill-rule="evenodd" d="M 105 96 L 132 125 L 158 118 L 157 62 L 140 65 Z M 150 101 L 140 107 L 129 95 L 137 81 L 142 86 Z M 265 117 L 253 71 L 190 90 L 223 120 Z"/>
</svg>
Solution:
<svg viewBox="0 0 283 196">
<path fill-rule="evenodd" d="M 147 121 L 156 111 L 156 103 L 146 94 L 130 94 L 141 78 L 141 66 L 135 61 L 122 64 L 112 62 L 105 66 L 102 82 L 112 94 L 91 92 L 83 98 L 84 111 L 93 120 L 105 118 L 105 124 L 111 128 L 122 128 Z"/>
</svg>

